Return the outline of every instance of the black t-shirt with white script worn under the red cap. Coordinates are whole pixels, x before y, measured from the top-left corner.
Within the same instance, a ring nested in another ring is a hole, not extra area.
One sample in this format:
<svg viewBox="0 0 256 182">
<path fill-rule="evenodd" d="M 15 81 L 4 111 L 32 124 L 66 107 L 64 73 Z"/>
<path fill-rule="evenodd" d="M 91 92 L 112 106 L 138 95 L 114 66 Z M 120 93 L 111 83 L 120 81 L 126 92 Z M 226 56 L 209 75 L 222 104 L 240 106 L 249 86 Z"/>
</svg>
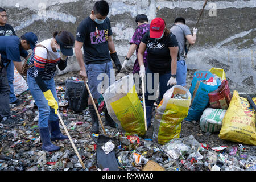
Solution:
<svg viewBox="0 0 256 182">
<path fill-rule="evenodd" d="M 146 44 L 147 66 L 154 73 L 171 72 L 171 55 L 169 47 L 179 46 L 174 34 L 170 33 L 167 37 L 160 40 L 150 38 L 149 31 L 141 40 Z"/>
</svg>

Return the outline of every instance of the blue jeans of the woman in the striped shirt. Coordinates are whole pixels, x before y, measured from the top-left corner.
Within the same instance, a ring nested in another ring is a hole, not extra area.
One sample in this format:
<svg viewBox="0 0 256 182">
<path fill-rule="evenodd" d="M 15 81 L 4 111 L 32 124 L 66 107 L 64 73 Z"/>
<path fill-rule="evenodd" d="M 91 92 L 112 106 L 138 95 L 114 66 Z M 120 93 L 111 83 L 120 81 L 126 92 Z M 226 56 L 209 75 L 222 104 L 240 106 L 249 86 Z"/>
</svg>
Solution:
<svg viewBox="0 0 256 182">
<path fill-rule="evenodd" d="M 48 127 L 48 120 L 56 121 L 59 118 L 55 114 L 55 110 L 52 109 L 48 105 L 48 101 L 46 100 L 46 97 L 44 97 L 42 90 L 39 88 L 38 84 L 36 83 L 35 78 L 27 75 L 27 82 L 28 82 L 28 88 L 30 88 L 30 92 L 31 92 L 32 96 L 34 97 L 35 104 L 38 106 L 39 128 Z M 57 92 L 56 92 L 54 78 L 52 78 L 51 80 L 47 80 L 47 81 L 44 80 L 44 83 L 46 84 L 47 88 L 51 90 L 55 100 L 59 103 L 58 98 L 57 98 Z"/>
</svg>

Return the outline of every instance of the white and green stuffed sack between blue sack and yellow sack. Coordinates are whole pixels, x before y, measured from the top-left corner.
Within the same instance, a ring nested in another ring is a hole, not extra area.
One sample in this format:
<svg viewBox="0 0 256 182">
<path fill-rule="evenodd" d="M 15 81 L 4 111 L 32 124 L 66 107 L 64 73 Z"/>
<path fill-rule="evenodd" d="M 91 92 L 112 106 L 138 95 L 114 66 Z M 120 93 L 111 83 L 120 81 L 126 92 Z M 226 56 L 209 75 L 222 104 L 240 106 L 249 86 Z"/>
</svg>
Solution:
<svg viewBox="0 0 256 182">
<path fill-rule="evenodd" d="M 222 119 L 226 114 L 224 109 L 207 108 L 200 118 L 200 127 L 204 132 L 218 132 L 221 130 Z"/>
</svg>

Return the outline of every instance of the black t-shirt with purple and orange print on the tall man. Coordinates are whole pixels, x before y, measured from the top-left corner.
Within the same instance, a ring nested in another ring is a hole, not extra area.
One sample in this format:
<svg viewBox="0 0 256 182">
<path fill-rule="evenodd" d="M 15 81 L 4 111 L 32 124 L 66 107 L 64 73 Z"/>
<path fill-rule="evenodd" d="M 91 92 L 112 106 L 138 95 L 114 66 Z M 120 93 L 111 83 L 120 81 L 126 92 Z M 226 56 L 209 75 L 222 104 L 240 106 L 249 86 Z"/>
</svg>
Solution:
<svg viewBox="0 0 256 182">
<path fill-rule="evenodd" d="M 84 43 L 85 64 L 111 61 L 108 37 L 112 35 L 109 18 L 97 24 L 90 16 L 82 20 L 77 28 L 76 40 Z"/>
</svg>

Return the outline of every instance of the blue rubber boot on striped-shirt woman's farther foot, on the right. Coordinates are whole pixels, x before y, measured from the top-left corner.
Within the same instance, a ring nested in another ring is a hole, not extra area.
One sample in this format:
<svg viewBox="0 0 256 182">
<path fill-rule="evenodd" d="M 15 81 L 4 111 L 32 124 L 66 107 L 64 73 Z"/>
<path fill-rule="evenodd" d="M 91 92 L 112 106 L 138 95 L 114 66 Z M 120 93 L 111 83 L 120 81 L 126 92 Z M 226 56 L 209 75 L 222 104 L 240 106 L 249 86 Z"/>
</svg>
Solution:
<svg viewBox="0 0 256 182">
<path fill-rule="evenodd" d="M 59 120 L 56 121 L 48 121 L 49 131 L 51 133 L 51 140 L 65 140 L 68 139 L 68 136 L 63 135 L 60 131 Z"/>
</svg>

